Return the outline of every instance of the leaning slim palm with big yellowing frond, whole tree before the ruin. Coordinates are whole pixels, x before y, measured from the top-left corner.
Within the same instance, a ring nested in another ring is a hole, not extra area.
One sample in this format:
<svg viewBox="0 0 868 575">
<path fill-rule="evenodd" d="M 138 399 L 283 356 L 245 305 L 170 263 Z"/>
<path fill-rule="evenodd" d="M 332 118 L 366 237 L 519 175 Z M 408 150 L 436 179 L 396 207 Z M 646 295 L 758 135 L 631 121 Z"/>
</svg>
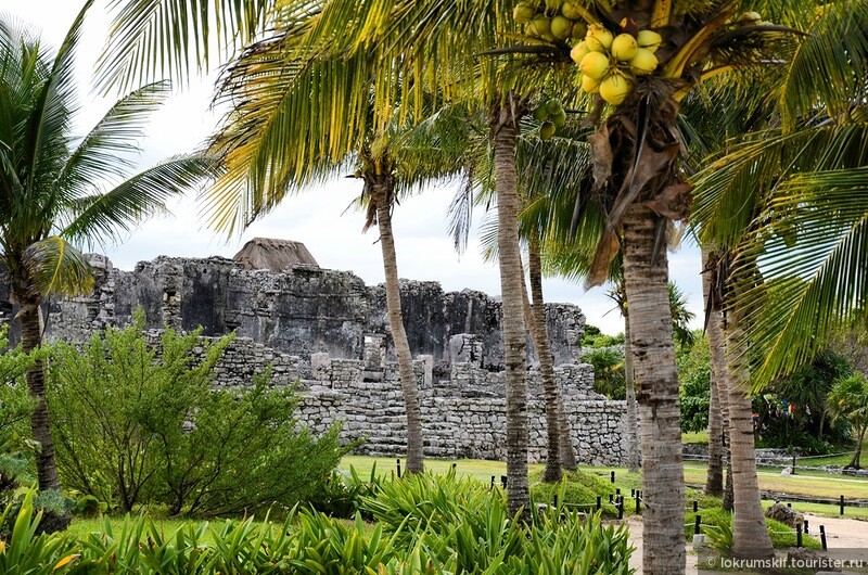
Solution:
<svg viewBox="0 0 868 575">
<path fill-rule="evenodd" d="M 290 193 L 356 167 L 363 181 L 365 230 L 376 225 L 385 272 L 386 308 L 407 410 L 407 471 L 422 472 L 422 418 L 412 355 L 404 327 L 392 217 L 399 193 L 459 174 L 467 132 L 441 130 L 457 115 L 424 126 L 378 124 L 375 71 L 390 64 L 369 53 L 337 54 L 317 34 L 312 14 L 289 12 L 272 36 L 244 50 L 228 68 L 218 101 L 230 111 L 210 142 L 226 174 L 205 199 L 212 223 L 232 232 L 252 223 Z M 316 94 L 311 98 L 311 94 Z M 414 105 L 412 91 L 396 105 Z M 423 95 L 423 98 L 426 98 Z M 448 111 L 447 111 L 448 112 Z"/>
</svg>

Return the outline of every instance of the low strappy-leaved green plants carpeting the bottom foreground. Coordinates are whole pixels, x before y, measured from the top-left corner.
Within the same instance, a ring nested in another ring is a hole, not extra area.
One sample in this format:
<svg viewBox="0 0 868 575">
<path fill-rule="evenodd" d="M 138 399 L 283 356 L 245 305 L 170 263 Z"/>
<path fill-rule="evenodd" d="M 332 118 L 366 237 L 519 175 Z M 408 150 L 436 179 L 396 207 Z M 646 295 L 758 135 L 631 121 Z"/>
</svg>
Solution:
<svg viewBox="0 0 868 575">
<path fill-rule="evenodd" d="M 470 490 L 470 498 L 463 496 Z M 534 513 L 533 524 L 509 518 L 502 493 L 455 475 L 411 476 L 383 482 L 386 523 L 367 526 L 360 514 L 343 524 L 322 513 L 292 510 L 282 524 L 227 521 L 218 526 L 181 525 L 164 534 L 144 518 L 81 540 L 36 536 L 30 511 L 16 529 L 14 553 L 0 551 L 2 573 L 382 573 L 575 575 L 630 573 L 624 526 L 604 527 L 599 514 L 580 519 L 556 509 Z M 410 501 L 416 501 L 412 507 Z M 423 512 L 414 512 L 421 507 Z M 477 507 L 478 506 L 478 507 Z M 373 506 L 383 509 L 381 506 Z M 421 523 L 411 525 L 408 516 Z M 17 532 L 16 532 L 17 533 Z M 21 542 L 26 545 L 21 545 Z M 36 559 L 39 558 L 39 563 Z M 35 568 L 36 565 L 39 565 Z M 34 571 L 28 571 L 34 570 Z M 56 570 L 56 571 L 53 571 Z"/>
</svg>

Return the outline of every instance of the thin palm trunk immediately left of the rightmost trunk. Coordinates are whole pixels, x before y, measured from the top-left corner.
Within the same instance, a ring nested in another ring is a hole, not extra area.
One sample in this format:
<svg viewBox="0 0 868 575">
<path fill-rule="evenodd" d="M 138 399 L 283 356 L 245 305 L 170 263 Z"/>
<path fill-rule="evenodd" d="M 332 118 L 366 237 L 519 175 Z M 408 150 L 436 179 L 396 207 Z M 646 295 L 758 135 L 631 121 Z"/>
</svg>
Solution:
<svg viewBox="0 0 868 575">
<path fill-rule="evenodd" d="M 705 333 L 709 336 L 709 356 L 712 363 L 711 389 L 709 400 L 709 473 L 705 476 L 705 493 L 715 497 L 724 494 L 724 418 L 722 412 L 722 387 L 725 389 L 726 369 L 723 366 L 723 349 L 720 342 L 719 311 L 715 309 L 715 304 L 710 299 L 712 292 L 712 270 L 709 252 L 702 251 L 702 293 L 705 297 L 705 305 L 709 325 Z M 714 332 L 714 333 L 712 333 Z M 712 343 L 714 338 L 714 343 Z"/>
</svg>

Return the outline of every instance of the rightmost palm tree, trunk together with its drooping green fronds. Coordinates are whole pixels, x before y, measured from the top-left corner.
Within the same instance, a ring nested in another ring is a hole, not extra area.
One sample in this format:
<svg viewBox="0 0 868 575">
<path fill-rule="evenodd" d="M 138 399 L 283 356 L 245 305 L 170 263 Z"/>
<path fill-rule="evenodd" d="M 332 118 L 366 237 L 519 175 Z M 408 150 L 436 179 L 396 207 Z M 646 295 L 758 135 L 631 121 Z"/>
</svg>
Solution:
<svg viewBox="0 0 868 575">
<path fill-rule="evenodd" d="M 827 7 L 819 16 L 793 20 L 793 25 L 807 25 L 812 35 L 800 42 L 781 75 L 782 85 L 771 92 L 783 94 L 777 119 L 725 150 L 697 178 L 694 216 L 702 222 L 701 234 L 728 251 L 723 256 L 729 271 L 720 276 L 720 302 L 730 365 L 730 452 L 739 522 L 733 544 L 741 548 L 737 552 L 755 549 L 758 535 L 770 552 L 749 438 L 751 387 L 794 369 L 830 330 L 848 321 L 854 304 L 860 305 L 855 295 L 858 282 L 841 282 L 843 273 L 855 272 L 858 278 L 858 265 L 850 267 L 855 260 L 841 254 L 851 253 L 851 242 L 863 241 L 856 222 L 864 217 L 865 204 L 857 208 L 858 215 L 856 209 L 844 215 L 858 200 L 840 186 L 855 183 L 854 181 L 858 176 L 851 174 L 857 170 L 852 168 L 866 159 L 868 139 L 851 117 L 851 107 L 858 110 L 864 101 L 866 13 L 865 3 L 857 2 L 845 11 Z M 808 81 L 815 69 L 831 80 Z M 833 173 L 817 171 L 826 169 Z M 831 189 L 826 188 L 829 184 Z M 792 193 L 794 189 L 801 191 Z M 763 358 L 753 373 L 749 349 L 751 356 Z"/>
</svg>

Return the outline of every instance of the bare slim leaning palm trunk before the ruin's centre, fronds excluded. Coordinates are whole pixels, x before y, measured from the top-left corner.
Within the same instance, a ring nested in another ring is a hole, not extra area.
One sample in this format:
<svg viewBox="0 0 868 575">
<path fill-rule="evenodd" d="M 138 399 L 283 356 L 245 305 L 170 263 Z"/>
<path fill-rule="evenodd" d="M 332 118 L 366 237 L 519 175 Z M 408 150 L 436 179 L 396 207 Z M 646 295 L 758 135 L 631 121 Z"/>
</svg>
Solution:
<svg viewBox="0 0 868 575">
<path fill-rule="evenodd" d="M 386 279 L 386 310 L 395 355 L 398 356 L 400 388 L 407 410 L 407 473 L 424 471 L 422 453 L 422 412 L 419 407 L 419 388 L 413 373 L 410 343 L 404 329 L 400 309 L 398 264 L 395 255 L 395 237 L 392 233 L 392 206 L 394 180 L 391 174 L 378 174 L 371 190 L 371 201 L 376 203 L 376 223 L 380 228 L 380 246 L 383 252 L 383 271 Z"/>
</svg>

